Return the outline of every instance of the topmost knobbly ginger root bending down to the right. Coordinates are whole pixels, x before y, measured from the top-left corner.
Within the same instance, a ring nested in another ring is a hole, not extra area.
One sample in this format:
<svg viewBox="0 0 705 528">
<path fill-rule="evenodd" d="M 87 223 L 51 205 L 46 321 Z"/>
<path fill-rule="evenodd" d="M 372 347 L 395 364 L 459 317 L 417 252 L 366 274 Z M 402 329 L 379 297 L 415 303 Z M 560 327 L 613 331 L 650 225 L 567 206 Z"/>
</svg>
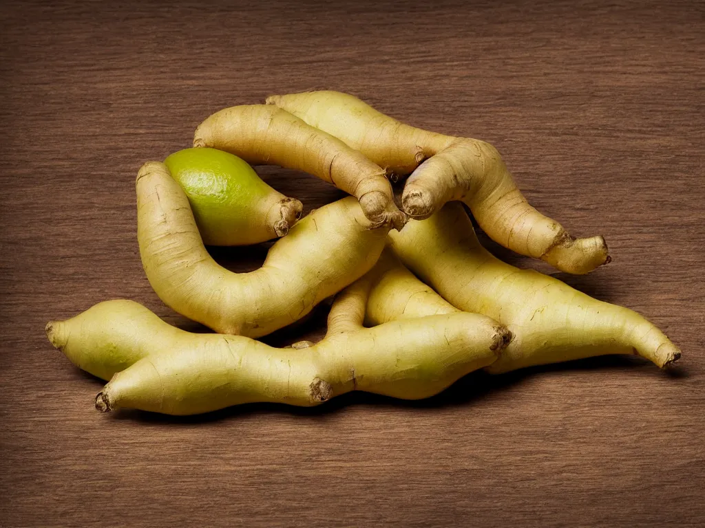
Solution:
<svg viewBox="0 0 705 528">
<path fill-rule="evenodd" d="M 463 201 L 491 239 L 558 270 L 582 274 L 609 261 L 603 237 L 575 239 L 530 206 L 489 143 L 405 125 L 341 92 L 269 96 L 266 103 L 341 139 L 387 170 L 410 174 L 402 207 L 412 218 L 428 218 L 448 201 Z"/>
</svg>

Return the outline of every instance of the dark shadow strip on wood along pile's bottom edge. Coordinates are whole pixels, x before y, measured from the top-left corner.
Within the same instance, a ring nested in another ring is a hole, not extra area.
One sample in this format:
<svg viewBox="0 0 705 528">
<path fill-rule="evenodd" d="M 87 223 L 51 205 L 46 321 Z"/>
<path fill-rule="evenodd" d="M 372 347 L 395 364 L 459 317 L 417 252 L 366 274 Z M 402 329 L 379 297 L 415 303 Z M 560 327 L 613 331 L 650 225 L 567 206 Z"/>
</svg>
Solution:
<svg viewBox="0 0 705 528">
<path fill-rule="evenodd" d="M 296 416 L 323 416 L 336 413 L 338 410 L 355 405 L 384 405 L 400 409 L 448 408 L 454 406 L 472 406 L 474 401 L 494 392 L 501 392 L 524 382 L 537 373 L 545 372 L 584 372 L 590 370 L 606 371 L 611 369 L 624 370 L 633 368 L 639 370 L 639 375 L 666 376 L 684 378 L 688 376 L 687 369 L 681 365 L 670 365 L 665 370 L 658 370 L 653 364 L 636 356 L 599 356 L 568 363 L 528 367 L 502 375 L 489 375 L 479 370 L 462 377 L 441 394 L 423 400 L 400 400 L 388 396 L 379 396 L 367 392 L 350 392 L 336 396 L 317 407 L 295 407 L 281 403 L 247 403 L 240 406 L 216 410 L 212 413 L 193 416 L 170 416 L 159 413 L 148 413 L 141 410 L 117 410 L 111 413 L 114 420 L 135 420 L 149 423 L 165 424 L 195 424 L 215 422 L 219 420 L 236 419 L 244 415 L 256 413 L 288 413 Z"/>
</svg>

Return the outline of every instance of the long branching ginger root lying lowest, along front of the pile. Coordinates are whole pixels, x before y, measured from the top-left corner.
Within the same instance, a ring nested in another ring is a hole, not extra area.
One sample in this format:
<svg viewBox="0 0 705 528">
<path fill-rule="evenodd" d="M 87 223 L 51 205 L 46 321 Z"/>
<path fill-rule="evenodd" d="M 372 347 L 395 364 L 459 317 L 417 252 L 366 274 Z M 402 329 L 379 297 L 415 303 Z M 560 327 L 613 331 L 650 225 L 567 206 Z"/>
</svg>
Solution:
<svg viewBox="0 0 705 528">
<path fill-rule="evenodd" d="M 170 415 L 252 402 L 315 406 L 353 390 L 427 398 L 496 361 L 510 339 L 495 321 L 468 313 L 363 328 L 365 295 L 359 285 L 344 291 L 326 338 L 295 348 L 185 332 L 132 301 L 51 322 L 47 335 L 75 365 L 110 379 L 96 397 L 98 410 Z"/>
</svg>

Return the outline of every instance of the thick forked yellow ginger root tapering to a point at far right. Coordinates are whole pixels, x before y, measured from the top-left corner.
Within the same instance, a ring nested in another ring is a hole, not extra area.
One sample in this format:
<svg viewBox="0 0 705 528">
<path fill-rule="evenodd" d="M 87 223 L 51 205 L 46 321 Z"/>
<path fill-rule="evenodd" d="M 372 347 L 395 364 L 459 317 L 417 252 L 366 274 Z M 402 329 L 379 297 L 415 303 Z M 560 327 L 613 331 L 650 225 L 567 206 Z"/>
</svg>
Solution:
<svg viewBox="0 0 705 528">
<path fill-rule="evenodd" d="M 403 263 L 455 308 L 482 313 L 510 329 L 514 339 L 489 372 L 606 354 L 635 353 L 659 367 L 680 358 L 668 337 L 638 313 L 492 256 L 459 203 L 446 204 L 428 220 L 411 221 L 388 238 Z M 414 316 L 455 312 L 400 264 L 385 263 L 371 272 L 377 278 L 367 306 L 369 322 L 403 318 L 406 303 L 418 295 L 427 310 L 413 304 Z"/>
</svg>

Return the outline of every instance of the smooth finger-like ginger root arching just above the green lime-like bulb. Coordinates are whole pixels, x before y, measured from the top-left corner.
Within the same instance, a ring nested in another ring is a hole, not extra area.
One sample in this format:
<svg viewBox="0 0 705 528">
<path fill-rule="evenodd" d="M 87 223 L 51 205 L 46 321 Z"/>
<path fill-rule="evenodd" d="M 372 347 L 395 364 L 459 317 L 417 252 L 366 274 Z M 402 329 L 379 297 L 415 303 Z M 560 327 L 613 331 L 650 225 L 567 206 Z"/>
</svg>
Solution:
<svg viewBox="0 0 705 528">
<path fill-rule="evenodd" d="M 355 196 L 375 225 L 401 229 L 407 220 L 394 203 L 384 169 L 276 106 L 224 108 L 197 127 L 193 145 L 228 151 L 252 165 L 308 172 Z"/>
</svg>

